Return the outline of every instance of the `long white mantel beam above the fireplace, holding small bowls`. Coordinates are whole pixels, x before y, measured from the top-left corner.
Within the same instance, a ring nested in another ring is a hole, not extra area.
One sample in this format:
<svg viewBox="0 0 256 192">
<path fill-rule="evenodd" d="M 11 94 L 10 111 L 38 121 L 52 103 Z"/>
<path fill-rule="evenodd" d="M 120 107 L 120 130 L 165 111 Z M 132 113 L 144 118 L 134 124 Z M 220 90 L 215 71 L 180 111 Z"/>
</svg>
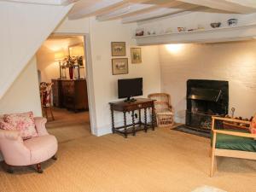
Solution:
<svg viewBox="0 0 256 192">
<path fill-rule="evenodd" d="M 134 37 L 137 45 L 193 44 L 241 41 L 256 38 L 256 23 L 246 26 L 219 27 L 204 31 L 172 32 Z"/>
</svg>

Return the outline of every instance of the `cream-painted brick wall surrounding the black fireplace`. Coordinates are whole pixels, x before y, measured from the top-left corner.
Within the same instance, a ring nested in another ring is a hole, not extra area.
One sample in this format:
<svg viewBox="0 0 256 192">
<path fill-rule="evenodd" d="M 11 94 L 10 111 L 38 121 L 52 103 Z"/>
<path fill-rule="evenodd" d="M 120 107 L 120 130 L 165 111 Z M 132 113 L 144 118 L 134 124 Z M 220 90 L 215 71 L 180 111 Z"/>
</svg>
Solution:
<svg viewBox="0 0 256 192">
<path fill-rule="evenodd" d="M 256 113 L 256 41 L 171 49 L 160 46 L 161 85 L 172 96 L 177 122 L 184 123 L 188 79 L 228 80 L 235 115 L 250 118 Z"/>
</svg>

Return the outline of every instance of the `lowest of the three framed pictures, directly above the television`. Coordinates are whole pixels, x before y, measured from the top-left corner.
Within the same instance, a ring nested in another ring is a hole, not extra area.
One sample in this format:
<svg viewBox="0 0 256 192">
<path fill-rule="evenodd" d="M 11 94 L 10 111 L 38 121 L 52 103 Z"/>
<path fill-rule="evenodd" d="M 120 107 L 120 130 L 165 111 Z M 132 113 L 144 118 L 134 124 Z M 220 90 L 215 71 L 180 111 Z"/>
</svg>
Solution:
<svg viewBox="0 0 256 192">
<path fill-rule="evenodd" d="M 112 74 L 128 74 L 128 59 L 116 58 L 112 59 Z"/>
</svg>

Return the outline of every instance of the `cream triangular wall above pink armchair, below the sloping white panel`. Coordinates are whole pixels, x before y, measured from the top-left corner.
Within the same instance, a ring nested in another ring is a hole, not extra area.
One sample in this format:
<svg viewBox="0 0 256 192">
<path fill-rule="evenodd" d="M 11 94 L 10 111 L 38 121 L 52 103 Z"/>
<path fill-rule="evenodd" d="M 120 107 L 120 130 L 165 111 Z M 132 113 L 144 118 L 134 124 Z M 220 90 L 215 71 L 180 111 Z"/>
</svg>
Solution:
<svg viewBox="0 0 256 192">
<path fill-rule="evenodd" d="M 35 57 L 0 100 L 0 114 L 27 111 L 32 111 L 34 116 L 42 116 Z"/>
</svg>

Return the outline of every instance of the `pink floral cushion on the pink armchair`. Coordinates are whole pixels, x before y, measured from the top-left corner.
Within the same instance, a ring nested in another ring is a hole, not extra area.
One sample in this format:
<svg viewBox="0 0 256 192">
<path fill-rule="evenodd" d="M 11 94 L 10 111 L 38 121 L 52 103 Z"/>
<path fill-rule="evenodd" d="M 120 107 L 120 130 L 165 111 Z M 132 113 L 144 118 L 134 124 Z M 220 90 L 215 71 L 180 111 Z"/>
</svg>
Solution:
<svg viewBox="0 0 256 192">
<path fill-rule="evenodd" d="M 23 139 L 38 136 L 32 112 L 4 114 L 3 119 L 6 123 L 13 125 L 15 130 L 20 131 Z"/>
</svg>

